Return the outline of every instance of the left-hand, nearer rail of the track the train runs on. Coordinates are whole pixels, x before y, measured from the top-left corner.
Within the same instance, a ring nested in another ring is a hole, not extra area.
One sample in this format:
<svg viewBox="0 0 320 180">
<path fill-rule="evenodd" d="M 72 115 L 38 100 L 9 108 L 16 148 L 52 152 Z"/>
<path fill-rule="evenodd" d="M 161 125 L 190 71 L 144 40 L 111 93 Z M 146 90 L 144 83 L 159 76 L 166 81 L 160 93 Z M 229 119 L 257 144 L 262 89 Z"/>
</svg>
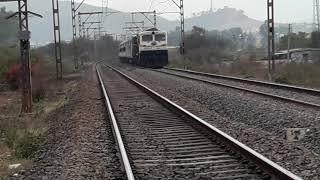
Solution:
<svg viewBox="0 0 320 180">
<path fill-rule="evenodd" d="M 170 72 L 164 72 L 164 71 L 161 71 L 161 70 L 154 70 L 154 71 L 160 72 L 160 73 L 164 73 L 164 74 L 168 74 L 168 75 L 172 75 L 172 76 L 177 76 L 177 77 L 184 78 L 184 79 L 200 81 L 200 82 L 204 82 L 204 83 L 208 83 L 208 84 L 218 85 L 218 86 L 221 86 L 221 87 L 226 87 L 226 88 L 241 90 L 241 91 L 245 91 L 245 92 L 249 92 L 249 93 L 254 93 L 254 94 L 257 94 L 257 95 L 262 95 L 262 96 L 265 96 L 265 97 L 281 100 L 281 101 L 284 101 L 284 102 L 290 102 L 290 103 L 295 103 L 295 104 L 298 104 L 298 105 L 303 105 L 303 106 L 306 106 L 306 107 L 309 107 L 309 108 L 320 109 L 320 104 L 300 101 L 300 100 L 296 100 L 296 99 L 293 99 L 293 98 L 287 98 L 287 97 L 283 97 L 283 96 L 279 96 L 279 95 L 264 93 L 264 92 L 257 91 L 257 90 L 242 88 L 242 87 L 233 86 L 233 85 L 227 85 L 227 84 L 224 84 L 224 83 L 218 83 L 218 82 L 213 82 L 213 81 L 209 81 L 209 80 L 189 77 L 189 76 L 185 76 L 185 75 L 180 75 L 180 74 L 175 74 L 175 73 L 170 73 Z"/>
</svg>

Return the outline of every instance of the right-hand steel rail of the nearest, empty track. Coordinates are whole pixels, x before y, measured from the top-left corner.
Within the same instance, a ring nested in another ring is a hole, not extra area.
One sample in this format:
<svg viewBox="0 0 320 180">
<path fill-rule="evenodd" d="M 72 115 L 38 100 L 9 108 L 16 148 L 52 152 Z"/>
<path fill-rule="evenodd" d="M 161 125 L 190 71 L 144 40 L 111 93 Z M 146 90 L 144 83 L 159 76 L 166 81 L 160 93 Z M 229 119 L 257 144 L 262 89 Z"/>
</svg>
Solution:
<svg viewBox="0 0 320 180">
<path fill-rule="evenodd" d="M 180 116 L 186 117 L 193 122 L 198 123 L 200 126 L 209 130 L 209 132 L 213 133 L 215 137 L 219 138 L 223 144 L 226 144 L 229 148 L 231 148 L 234 152 L 238 152 L 248 160 L 254 162 L 258 167 L 260 167 L 263 171 L 269 173 L 275 179 L 281 180 L 302 180 L 297 175 L 291 173 L 290 171 L 284 169 L 283 167 L 279 166 L 278 164 L 272 162 L 271 160 L 267 159 L 263 155 L 259 154 L 258 152 L 254 151 L 253 149 L 249 148 L 248 146 L 242 144 L 238 140 L 234 139 L 233 137 L 227 135 L 226 133 L 222 132 L 218 128 L 212 126 L 211 124 L 207 123 L 206 121 L 202 120 L 201 118 L 195 116 L 191 112 L 185 110 L 184 108 L 178 106 L 174 102 L 170 101 L 169 99 L 165 98 L 164 96 L 158 94 L 157 92 L 153 91 L 152 89 L 146 87 L 145 85 L 139 83 L 135 79 L 129 77 L 128 75 L 124 74 L 120 70 L 115 69 L 112 66 L 106 65 L 110 69 L 114 70 L 122 77 L 127 79 L 130 83 L 140 88 L 142 91 L 153 97 L 156 101 L 161 103 L 162 105 L 166 106 L 170 110 L 178 113 Z"/>
</svg>

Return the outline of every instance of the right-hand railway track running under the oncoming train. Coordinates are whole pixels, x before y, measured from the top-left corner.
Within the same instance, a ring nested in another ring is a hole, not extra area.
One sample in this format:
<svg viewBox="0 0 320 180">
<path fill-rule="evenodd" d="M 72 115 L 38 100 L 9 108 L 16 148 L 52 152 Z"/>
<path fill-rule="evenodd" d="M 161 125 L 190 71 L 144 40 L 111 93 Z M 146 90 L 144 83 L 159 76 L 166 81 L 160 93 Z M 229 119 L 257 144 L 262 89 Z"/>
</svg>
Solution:
<svg viewBox="0 0 320 180">
<path fill-rule="evenodd" d="M 315 109 L 320 108 L 320 90 L 316 89 L 248 80 L 176 68 L 165 68 L 154 71 L 184 79 L 201 81 L 212 85 L 254 93 L 268 98 L 295 103 L 306 107 Z"/>
</svg>

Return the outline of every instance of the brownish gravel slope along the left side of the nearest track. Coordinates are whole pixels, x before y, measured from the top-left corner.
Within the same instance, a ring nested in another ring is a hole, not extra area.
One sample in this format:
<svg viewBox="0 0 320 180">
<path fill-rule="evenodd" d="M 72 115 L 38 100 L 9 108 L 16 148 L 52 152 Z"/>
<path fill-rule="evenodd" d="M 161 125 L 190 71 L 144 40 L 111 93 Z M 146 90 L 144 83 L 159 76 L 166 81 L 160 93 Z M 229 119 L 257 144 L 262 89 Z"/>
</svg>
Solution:
<svg viewBox="0 0 320 180">
<path fill-rule="evenodd" d="M 47 142 L 32 169 L 13 179 L 125 179 L 94 72 L 83 74 L 67 97 L 48 119 Z"/>
</svg>

